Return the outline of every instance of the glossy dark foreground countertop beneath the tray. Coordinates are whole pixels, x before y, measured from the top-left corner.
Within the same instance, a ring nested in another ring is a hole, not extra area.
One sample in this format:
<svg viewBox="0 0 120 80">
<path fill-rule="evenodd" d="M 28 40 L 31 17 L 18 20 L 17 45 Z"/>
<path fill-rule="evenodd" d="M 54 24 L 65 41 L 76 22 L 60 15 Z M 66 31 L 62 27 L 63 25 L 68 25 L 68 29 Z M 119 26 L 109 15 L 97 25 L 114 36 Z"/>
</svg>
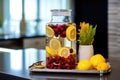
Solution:
<svg viewBox="0 0 120 80">
<path fill-rule="evenodd" d="M 120 80 L 120 59 L 110 57 L 112 71 L 102 77 L 95 74 L 31 73 L 29 66 L 45 60 L 44 49 L 22 49 L 0 52 L 0 79 L 3 80 Z M 6 77 L 7 76 L 7 77 Z M 12 76 L 12 77 L 11 77 Z"/>
</svg>

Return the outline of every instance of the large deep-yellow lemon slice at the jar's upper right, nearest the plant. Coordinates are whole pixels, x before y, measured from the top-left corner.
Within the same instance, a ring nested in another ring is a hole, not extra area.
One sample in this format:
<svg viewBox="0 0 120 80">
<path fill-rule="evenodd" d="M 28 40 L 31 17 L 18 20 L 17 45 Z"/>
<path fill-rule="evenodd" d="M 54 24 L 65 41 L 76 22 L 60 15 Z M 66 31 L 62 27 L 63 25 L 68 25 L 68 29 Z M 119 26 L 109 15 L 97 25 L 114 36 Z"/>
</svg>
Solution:
<svg viewBox="0 0 120 80">
<path fill-rule="evenodd" d="M 66 30 L 66 37 L 69 41 L 76 40 L 76 27 L 74 25 L 70 25 Z"/>
</svg>

